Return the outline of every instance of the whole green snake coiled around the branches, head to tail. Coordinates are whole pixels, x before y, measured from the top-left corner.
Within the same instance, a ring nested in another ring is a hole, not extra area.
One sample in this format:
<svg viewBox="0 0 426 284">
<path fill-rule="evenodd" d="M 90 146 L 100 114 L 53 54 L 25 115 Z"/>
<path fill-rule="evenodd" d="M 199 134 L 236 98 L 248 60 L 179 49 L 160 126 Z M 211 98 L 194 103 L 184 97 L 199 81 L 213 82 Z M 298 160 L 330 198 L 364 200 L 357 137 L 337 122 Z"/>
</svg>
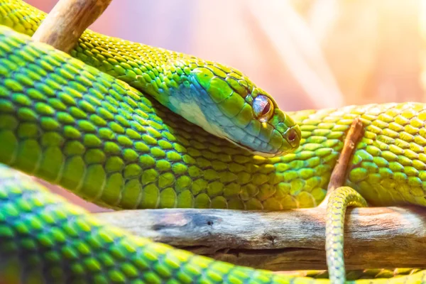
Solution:
<svg viewBox="0 0 426 284">
<path fill-rule="evenodd" d="M 315 207 L 360 118 L 346 187 L 329 202 L 340 208 L 327 219 L 332 283 L 344 281 L 346 206 L 426 204 L 425 104 L 285 114 L 241 72 L 188 55 L 86 31 L 72 58 L 28 37 L 44 17 L 0 0 L 0 283 L 329 281 L 132 236 L 17 170 L 114 209 Z M 426 283 L 426 271 L 372 281 Z"/>
</svg>

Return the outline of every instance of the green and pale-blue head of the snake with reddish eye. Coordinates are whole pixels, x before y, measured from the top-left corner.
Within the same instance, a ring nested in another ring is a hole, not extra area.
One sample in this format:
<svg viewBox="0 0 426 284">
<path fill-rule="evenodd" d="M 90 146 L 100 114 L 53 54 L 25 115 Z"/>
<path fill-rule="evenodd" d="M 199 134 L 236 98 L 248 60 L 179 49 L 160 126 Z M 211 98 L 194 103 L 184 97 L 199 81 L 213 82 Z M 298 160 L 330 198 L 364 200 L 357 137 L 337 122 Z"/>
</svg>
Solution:
<svg viewBox="0 0 426 284">
<path fill-rule="evenodd" d="M 204 98 L 200 104 L 203 117 L 193 117 L 192 122 L 256 155 L 295 151 L 300 145 L 300 128 L 271 95 L 238 70 L 203 63 L 189 76 L 192 90 L 198 90 L 197 99 Z"/>
</svg>

